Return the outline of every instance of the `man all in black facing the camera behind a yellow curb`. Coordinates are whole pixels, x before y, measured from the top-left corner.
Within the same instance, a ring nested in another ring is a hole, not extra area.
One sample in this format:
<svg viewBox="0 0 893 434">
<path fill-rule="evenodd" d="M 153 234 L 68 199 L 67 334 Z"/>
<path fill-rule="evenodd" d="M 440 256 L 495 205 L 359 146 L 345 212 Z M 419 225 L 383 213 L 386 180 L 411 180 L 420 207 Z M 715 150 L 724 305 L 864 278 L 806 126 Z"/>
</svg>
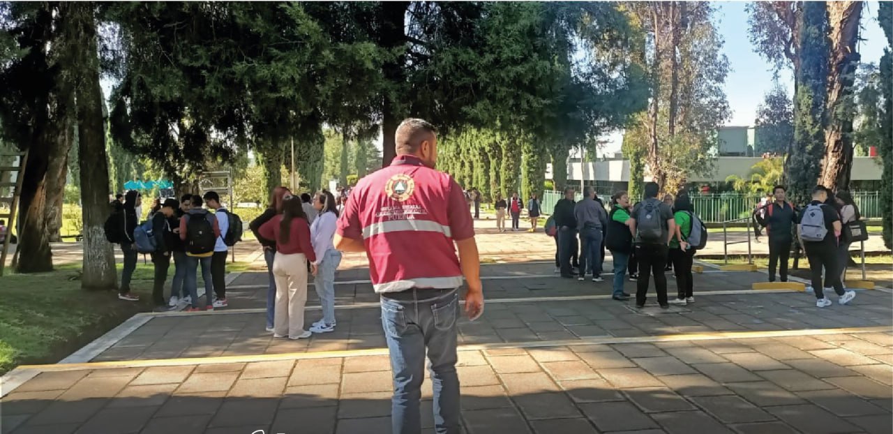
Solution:
<svg viewBox="0 0 893 434">
<path fill-rule="evenodd" d="M 797 210 L 785 200 L 784 186 L 775 186 L 773 194 L 775 201 L 757 210 L 754 220 L 766 228 L 769 237 L 769 281 L 775 281 L 775 269 L 778 268 L 781 281 L 786 282 L 790 243 L 793 240 L 791 233 L 797 220 Z"/>
</svg>

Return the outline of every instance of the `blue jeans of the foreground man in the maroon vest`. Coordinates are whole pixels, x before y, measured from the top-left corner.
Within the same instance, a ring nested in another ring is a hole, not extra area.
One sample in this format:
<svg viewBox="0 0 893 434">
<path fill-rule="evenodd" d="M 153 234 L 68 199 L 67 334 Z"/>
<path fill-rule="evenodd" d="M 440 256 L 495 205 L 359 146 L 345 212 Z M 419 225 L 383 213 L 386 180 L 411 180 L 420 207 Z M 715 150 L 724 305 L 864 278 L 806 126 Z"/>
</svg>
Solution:
<svg viewBox="0 0 893 434">
<path fill-rule="evenodd" d="M 394 434 L 421 432 L 421 382 L 425 349 L 434 392 L 434 426 L 439 434 L 458 433 L 459 376 L 456 363 L 455 289 L 408 289 L 381 296 L 381 326 L 394 375 L 391 427 Z"/>
</svg>

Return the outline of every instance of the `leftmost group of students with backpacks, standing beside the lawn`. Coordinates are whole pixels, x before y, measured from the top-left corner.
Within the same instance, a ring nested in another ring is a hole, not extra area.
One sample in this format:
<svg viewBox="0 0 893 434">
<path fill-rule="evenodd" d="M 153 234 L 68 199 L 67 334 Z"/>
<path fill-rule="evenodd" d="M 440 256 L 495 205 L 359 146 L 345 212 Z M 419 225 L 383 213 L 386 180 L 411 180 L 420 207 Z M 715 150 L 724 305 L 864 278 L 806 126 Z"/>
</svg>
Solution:
<svg viewBox="0 0 893 434">
<path fill-rule="evenodd" d="M 204 209 L 203 204 L 207 204 L 214 213 Z M 130 190 L 124 195 L 123 202 L 112 202 L 113 214 L 106 222 L 106 238 L 113 242 L 117 239 L 124 256 L 118 298 L 126 301 L 139 300 L 139 296 L 130 290 L 130 280 L 137 268 L 138 227 L 141 226 L 137 210 L 141 205 L 142 196 L 138 191 Z M 214 308 L 229 305 L 226 298 L 226 258 L 232 240 L 240 239 L 240 234 L 234 233 L 236 228 L 230 228 L 230 220 L 229 211 L 213 191 L 204 196 L 183 195 L 179 201 L 167 198 L 154 204 L 146 223 L 148 230 L 144 231 L 153 238 L 151 244 L 154 251 L 145 253 L 152 256 L 154 264 L 152 299 L 156 312 L 183 306 L 189 312 L 201 310 L 196 276 L 199 267 L 204 279 L 204 310 L 213 311 Z M 120 234 L 114 233 L 116 228 L 121 230 Z M 171 258 L 174 275 L 171 296 L 165 303 L 163 290 Z"/>
</svg>

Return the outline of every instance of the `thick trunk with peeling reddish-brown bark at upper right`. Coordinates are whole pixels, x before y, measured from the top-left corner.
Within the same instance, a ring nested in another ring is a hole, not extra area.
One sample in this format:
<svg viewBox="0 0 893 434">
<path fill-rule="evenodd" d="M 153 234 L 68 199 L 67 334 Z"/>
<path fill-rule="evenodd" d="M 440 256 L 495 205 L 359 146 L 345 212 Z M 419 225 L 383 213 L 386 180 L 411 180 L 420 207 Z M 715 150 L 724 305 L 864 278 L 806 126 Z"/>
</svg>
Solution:
<svg viewBox="0 0 893 434">
<path fill-rule="evenodd" d="M 853 169 L 853 84 L 860 56 L 855 51 L 863 2 L 828 3 L 830 21 L 830 71 L 828 79 L 829 116 L 825 128 L 825 158 L 820 183 L 831 189 L 849 187 Z"/>
</svg>

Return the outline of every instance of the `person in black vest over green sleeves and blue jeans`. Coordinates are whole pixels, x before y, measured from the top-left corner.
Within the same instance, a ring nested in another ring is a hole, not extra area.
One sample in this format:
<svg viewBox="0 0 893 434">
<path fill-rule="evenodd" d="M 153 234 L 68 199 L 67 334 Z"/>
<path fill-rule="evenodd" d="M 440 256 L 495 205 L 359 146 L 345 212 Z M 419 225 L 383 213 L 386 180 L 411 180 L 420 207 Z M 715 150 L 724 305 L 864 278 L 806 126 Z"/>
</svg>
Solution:
<svg viewBox="0 0 893 434">
<path fill-rule="evenodd" d="M 623 291 L 623 278 L 626 276 L 627 264 L 632 252 L 632 234 L 630 233 L 630 195 L 618 191 L 611 196 L 611 213 L 608 214 L 608 230 L 605 233 L 605 247 L 613 257 L 613 293 L 611 298 L 627 301 L 630 295 Z"/>
</svg>

